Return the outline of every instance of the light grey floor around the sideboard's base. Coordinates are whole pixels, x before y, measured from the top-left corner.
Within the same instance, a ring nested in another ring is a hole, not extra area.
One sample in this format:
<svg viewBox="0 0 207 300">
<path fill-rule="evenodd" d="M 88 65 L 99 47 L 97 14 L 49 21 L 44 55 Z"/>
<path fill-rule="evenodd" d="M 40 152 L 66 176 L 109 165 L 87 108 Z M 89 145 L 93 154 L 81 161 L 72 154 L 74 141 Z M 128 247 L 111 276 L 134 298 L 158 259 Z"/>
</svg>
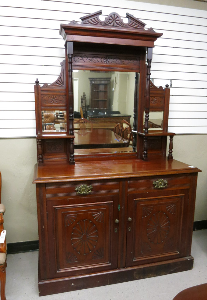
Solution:
<svg viewBox="0 0 207 300">
<path fill-rule="evenodd" d="M 190 271 L 134 280 L 104 287 L 39 297 L 37 286 L 38 252 L 7 256 L 7 300 L 172 300 L 187 287 L 207 282 L 207 230 L 193 232 Z M 196 300 L 196 299 L 195 299 Z"/>
</svg>

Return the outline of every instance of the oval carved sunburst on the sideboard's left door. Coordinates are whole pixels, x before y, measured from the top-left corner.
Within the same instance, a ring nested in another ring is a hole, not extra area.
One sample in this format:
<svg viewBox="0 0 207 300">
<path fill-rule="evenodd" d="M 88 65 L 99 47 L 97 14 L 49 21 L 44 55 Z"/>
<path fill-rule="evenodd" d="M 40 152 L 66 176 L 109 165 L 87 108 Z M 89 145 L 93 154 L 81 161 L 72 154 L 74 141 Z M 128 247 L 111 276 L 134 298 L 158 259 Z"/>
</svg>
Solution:
<svg viewBox="0 0 207 300">
<path fill-rule="evenodd" d="M 98 241 L 98 230 L 90 220 L 81 220 L 72 231 L 72 246 L 79 254 L 88 254 L 96 246 Z"/>
</svg>

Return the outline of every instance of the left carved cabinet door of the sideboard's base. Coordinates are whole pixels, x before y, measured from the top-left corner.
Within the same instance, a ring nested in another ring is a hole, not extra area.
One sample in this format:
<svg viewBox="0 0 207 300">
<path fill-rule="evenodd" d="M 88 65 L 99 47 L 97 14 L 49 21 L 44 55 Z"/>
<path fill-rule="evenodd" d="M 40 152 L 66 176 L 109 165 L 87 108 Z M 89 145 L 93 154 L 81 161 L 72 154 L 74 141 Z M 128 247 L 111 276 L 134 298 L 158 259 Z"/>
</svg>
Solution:
<svg viewBox="0 0 207 300">
<path fill-rule="evenodd" d="M 48 201 L 51 277 L 117 268 L 118 200 L 100 196 Z"/>
</svg>

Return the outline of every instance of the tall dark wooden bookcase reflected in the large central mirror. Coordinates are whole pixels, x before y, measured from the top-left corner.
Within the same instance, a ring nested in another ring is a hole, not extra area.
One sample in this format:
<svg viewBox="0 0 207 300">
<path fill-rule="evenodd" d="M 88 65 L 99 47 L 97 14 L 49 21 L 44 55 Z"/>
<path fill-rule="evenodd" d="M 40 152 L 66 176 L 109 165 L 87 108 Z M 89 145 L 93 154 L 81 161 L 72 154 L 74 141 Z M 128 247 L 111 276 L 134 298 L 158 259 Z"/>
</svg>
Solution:
<svg viewBox="0 0 207 300">
<path fill-rule="evenodd" d="M 89 78 L 90 108 L 109 108 L 109 85 L 111 78 Z"/>
</svg>

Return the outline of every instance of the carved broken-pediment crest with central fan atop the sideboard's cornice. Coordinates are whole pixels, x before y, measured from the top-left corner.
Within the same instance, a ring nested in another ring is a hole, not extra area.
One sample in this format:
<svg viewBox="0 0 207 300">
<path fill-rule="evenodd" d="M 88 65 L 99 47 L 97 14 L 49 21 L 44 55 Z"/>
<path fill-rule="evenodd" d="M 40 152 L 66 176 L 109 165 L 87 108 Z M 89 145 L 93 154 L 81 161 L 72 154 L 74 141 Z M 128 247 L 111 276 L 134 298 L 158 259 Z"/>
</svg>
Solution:
<svg viewBox="0 0 207 300">
<path fill-rule="evenodd" d="M 96 13 L 91 13 L 87 16 L 80 18 L 82 23 L 78 23 L 75 20 L 70 22 L 69 24 L 75 25 L 88 25 L 88 26 L 109 26 L 109 27 L 121 27 L 121 28 L 133 28 L 144 31 L 155 32 L 152 28 L 145 30 L 146 24 L 139 19 L 135 18 L 130 13 L 126 13 L 126 17 L 128 18 L 128 23 L 123 22 L 118 13 L 110 13 L 105 20 L 101 21 L 99 16 L 102 15 L 102 10 L 99 10 Z"/>
</svg>

